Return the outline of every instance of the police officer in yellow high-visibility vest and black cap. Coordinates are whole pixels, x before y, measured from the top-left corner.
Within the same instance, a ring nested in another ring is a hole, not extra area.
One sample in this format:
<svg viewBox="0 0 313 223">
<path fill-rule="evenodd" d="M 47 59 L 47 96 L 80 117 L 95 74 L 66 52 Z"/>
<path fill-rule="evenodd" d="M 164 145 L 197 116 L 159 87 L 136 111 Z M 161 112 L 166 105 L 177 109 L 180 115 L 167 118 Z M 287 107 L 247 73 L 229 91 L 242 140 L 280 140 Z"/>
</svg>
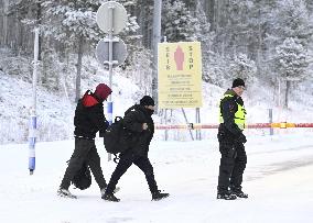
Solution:
<svg viewBox="0 0 313 223">
<path fill-rule="evenodd" d="M 247 142 L 242 131 L 246 123 L 246 109 L 241 94 L 245 81 L 237 78 L 220 99 L 219 127 L 217 138 L 222 154 L 217 199 L 234 200 L 248 198 L 241 190 L 242 175 L 247 164 L 244 144 Z"/>
</svg>

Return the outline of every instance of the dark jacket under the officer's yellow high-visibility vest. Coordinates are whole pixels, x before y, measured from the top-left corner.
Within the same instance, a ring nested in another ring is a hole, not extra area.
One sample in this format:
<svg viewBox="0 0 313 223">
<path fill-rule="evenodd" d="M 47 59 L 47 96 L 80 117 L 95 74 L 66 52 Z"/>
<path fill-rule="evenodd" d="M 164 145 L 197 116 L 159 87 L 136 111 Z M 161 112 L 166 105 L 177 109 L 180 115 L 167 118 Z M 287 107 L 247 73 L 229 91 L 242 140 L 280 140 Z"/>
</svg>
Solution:
<svg viewBox="0 0 313 223">
<path fill-rule="evenodd" d="M 242 131 L 235 124 L 235 113 L 238 111 L 238 104 L 244 105 L 241 97 L 237 96 L 231 89 L 228 89 L 224 94 L 233 94 L 234 97 L 226 97 L 220 100 L 220 111 L 224 123 L 219 124 L 218 138 L 226 138 L 230 141 L 245 141 L 246 137 Z M 245 137 L 245 138 L 242 138 Z"/>
</svg>

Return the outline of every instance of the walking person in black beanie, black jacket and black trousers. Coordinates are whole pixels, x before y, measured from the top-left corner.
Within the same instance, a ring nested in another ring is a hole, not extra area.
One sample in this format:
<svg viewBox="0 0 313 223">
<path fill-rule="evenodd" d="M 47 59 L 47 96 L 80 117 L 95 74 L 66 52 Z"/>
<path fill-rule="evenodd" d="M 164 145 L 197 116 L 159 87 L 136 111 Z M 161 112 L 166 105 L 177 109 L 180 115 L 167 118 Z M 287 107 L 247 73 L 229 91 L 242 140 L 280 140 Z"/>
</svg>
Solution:
<svg viewBox="0 0 313 223">
<path fill-rule="evenodd" d="M 143 174 L 152 194 L 152 200 L 160 200 L 169 197 L 169 193 L 161 193 L 154 179 L 153 167 L 148 158 L 149 145 L 154 133 L 154 123 L 151 115 L 154 112 L 154 100 L 144 96 L 140 104 L 134 104 L 125 112 L 123 124 L 130 134 L 130 146 L 120 154 L 120 160 L 111 175 L 110 181 L 102 199 L 106 201 L 118 202 L 114 190 L 120 177 L 127 169 L 134 164 Z"/>
</svg>

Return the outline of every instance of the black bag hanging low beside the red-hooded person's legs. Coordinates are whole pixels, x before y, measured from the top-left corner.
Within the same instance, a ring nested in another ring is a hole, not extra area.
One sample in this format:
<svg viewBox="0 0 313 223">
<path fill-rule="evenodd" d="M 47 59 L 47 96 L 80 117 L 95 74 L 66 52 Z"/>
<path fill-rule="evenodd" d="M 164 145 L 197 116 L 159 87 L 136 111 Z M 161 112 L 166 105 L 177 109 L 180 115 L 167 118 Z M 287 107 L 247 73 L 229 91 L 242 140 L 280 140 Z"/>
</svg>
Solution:
<svg viewBox="0 0 313 223">
<path fill-rule="evenodd" d="M 90 169 L 86 163 L 83 164 L 82 168 L 74 176 L 72 183 L 80 190 L 85 190 L 90 187 L 91 175 Z"/>
</svg>

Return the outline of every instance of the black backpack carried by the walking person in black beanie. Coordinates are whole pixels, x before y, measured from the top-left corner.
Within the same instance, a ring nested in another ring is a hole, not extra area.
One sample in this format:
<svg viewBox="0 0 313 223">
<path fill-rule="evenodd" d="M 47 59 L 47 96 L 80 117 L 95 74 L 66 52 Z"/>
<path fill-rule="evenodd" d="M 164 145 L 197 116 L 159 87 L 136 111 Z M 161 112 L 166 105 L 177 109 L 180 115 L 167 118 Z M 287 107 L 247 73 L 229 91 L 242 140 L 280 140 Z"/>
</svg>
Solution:
<svg viewBox="0 0 313 223">
<path fill-rule="evenodd" d="M 123 119 L 117 116 L 115 122 L 108 126 L 104 134 L 106 150 L 110 154 L 118 154 L 127 150 L 130 146 L 131 132 L 123 125 Z"/>
</svg>

